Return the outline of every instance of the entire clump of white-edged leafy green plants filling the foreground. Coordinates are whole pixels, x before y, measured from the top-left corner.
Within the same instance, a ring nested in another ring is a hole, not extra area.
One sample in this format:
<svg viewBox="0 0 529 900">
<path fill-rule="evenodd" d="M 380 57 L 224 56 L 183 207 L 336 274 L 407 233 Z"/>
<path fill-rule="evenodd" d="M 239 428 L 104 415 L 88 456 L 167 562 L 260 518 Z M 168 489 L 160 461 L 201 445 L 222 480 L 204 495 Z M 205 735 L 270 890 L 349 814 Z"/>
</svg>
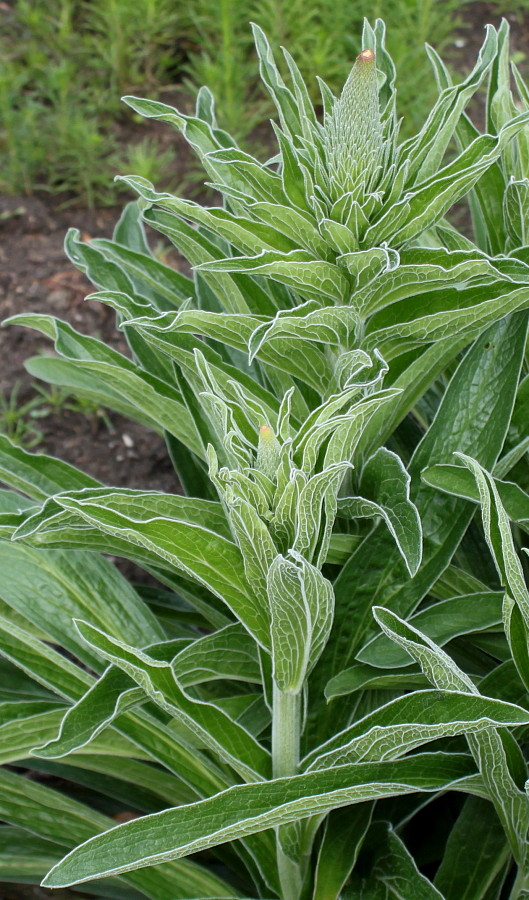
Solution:
<svg viewBox="0 0 529 900">
<path fill-rule="evenodd" d="M 514 69 L 511 94 L 505 24 L 456 86 L 430 50 L 439 100 L 399 143 L 381 22 L 342 95 L 322 82 L 322 117 L 255 37 L 277 156 L 240 151 L 208 91 L 194 116 L 128 98 L 183 132 L 222 205 L 128 177 L 112 241 L 68 236 L 130 356 L 10 320 L 54 343 L 33 375 L 165 435 L 182 493 L 105 487 L 0 437 L 0 880 L 515 900 L 529 92 Z M 480 134 L 465 108 L 484 82 Z M 445 218 L 467 196 L 473 239 Z"/>
</svg>

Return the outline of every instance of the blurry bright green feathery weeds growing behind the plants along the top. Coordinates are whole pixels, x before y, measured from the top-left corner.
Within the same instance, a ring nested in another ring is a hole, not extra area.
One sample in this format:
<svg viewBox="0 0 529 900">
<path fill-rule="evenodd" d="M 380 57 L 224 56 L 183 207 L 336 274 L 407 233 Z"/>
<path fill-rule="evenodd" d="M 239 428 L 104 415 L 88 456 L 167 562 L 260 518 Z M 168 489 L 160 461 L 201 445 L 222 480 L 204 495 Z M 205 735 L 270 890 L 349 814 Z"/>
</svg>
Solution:
<svg viewBox="0 0 529 900">
<path fill-rule="evenodd" d="M 387 23 L 408 133 L 422 122 L 435 92 L 423 44 L 443 50 L 461 6 L 459 0 L 369 5 L 369 16 Z M 271 108 L 258 81 L 249 21 L 275 46 L 290 48 L 316 100 L 316 73 L 324 72 L 334 90 L 343 83 L 360 49 L 366 11 L 362 0 L 0 4 L 0 192 L 44 189 L 93 206 L 116 201 L 117 188 L 110 185 L 117 172 L 170 180 L 174 154 L 144 137 L 144 126 L 120 103 L 131 92 L 169 100 L 176 92 L 182 107 L 182 93 L 191 104 L 197 88 L 207 85 L 215 91 L 221 126 L 243 145 L 266 148 L 267 130 L 260 126 Z M 130 133 L 124 136 L 123 128 Z"/>
</svg>

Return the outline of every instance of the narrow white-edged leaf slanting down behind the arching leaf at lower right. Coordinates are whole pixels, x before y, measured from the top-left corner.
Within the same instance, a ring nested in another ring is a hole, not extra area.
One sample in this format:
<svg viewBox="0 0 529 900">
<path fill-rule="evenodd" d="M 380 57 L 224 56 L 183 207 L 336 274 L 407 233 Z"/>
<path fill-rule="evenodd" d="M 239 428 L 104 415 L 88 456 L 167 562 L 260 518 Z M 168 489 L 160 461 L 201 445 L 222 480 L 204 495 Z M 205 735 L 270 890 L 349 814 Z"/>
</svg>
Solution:
<svg viewBox="0 0 529 900">
<path fill-rule="evenodd" d="M 407 650 L 437 688 L 478 694 L 470 677 L 430 638 L 387 609 L 375 607 L 373 614 L 385 634 Z M 467 740 L 513 855 L 517 860 L 523 859 L 529 827 L 529 800 L 513 780 L 501 736 L 495 728 L 489 728 L 480 734 L 469 735 Z"/>
</svg>

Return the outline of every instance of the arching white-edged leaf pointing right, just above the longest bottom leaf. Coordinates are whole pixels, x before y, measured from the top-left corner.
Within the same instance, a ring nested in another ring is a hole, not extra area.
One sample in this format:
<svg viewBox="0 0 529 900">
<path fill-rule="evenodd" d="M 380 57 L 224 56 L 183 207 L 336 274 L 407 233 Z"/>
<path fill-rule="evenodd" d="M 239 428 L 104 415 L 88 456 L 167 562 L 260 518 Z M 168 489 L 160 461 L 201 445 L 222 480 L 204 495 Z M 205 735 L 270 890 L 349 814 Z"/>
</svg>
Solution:
<svg viewBox="0 0 529 900">
<path fill-rule="evenodd" d="M 370 713 L 303 761 L 310 771 L 352 762 L 397 759 L 423 743 L 491 726 L 524 725 L 521 706 L 460 691 L 414 691 Z"/>
</svg>

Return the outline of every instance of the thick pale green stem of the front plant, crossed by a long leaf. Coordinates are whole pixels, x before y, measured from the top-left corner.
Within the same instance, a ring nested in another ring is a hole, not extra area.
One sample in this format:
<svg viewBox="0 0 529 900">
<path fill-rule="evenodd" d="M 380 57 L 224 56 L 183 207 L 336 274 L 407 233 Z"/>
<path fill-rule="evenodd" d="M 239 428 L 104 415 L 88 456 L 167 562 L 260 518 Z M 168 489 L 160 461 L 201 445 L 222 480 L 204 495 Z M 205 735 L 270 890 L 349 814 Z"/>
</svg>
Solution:
<svg viewBox="0 0 529 900">
<path fill-rule="evenodd" d="M 272 771 L 274 778 L 294 775 L 299 763 L 301 724 L 301 695 L 280 691 L 274 684 L 272 714 Z M 281 846 L 281 832 L 277 830 L 277 867 L 281 882 L 282 900 L 299 900 L 303 875 L 299 863 L 291 859 Z"/>
</svg>

